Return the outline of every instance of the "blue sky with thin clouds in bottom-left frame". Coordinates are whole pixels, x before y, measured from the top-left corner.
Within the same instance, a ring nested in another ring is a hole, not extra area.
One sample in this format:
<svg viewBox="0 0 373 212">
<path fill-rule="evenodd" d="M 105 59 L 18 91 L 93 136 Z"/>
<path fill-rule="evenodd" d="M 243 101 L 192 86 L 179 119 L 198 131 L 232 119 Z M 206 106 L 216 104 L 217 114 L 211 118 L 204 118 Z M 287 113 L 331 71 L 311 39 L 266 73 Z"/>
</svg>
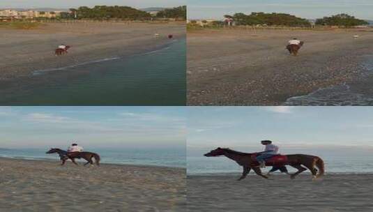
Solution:
<svg viewBox="0 0 373 212">
<path fill-rule="evenodd" d="M 0 107 L 0 148 L 185 149 L 183 107 Z"/>
</svg>

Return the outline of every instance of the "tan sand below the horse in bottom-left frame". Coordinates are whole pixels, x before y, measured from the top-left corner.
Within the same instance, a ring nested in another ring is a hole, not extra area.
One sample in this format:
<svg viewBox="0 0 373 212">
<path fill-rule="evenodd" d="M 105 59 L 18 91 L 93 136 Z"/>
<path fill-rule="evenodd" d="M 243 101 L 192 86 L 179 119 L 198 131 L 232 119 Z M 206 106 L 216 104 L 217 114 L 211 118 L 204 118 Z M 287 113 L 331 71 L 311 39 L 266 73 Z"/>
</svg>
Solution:
<svg viewBox="0 0 373 212">
<path fill-rule="evenodd" d="M 185 169 L 0 158 L 0 211 L 184 211 Z"/>
</svg>

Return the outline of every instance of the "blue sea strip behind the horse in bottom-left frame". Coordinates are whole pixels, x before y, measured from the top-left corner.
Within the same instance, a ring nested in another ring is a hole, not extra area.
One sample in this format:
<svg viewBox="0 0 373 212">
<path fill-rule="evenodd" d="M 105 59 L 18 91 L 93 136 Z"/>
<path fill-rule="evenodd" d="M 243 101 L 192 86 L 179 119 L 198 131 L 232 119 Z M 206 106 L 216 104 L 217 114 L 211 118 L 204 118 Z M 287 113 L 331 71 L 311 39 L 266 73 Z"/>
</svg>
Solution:
<svg viewBox="0 0 373 212">
<path fill-rule="evenodd" d="M 47 149 L 0 149 L 0 157 L 59 161 L 58 154 L 46 154 L 46 151 Z M 98 153 L 101 163 L 185 167 L 185 149 L 86 149 L 86 151 Z"/>
</svg>

